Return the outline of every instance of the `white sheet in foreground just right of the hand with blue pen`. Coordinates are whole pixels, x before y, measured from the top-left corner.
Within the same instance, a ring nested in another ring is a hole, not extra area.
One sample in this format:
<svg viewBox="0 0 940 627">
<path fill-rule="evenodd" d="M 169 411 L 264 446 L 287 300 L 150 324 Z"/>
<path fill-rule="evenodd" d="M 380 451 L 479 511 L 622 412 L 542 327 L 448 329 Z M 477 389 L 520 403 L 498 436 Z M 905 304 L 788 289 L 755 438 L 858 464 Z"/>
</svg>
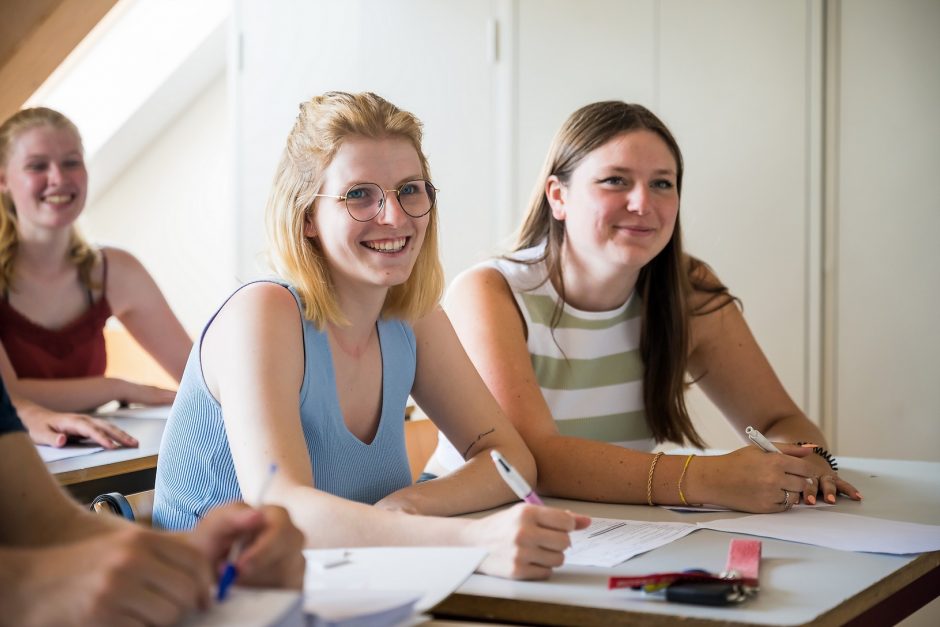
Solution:
<svg viewBox="0 0 940 627">
<path fill-rule="evenodd" d="M 474 547 L 369 547 L 304 551 L 307 599 L 331 592 L 400 595 L 417 598 L 415 612 L 425 612 L 457 589 L 486 556 Z"/>
</svg>

